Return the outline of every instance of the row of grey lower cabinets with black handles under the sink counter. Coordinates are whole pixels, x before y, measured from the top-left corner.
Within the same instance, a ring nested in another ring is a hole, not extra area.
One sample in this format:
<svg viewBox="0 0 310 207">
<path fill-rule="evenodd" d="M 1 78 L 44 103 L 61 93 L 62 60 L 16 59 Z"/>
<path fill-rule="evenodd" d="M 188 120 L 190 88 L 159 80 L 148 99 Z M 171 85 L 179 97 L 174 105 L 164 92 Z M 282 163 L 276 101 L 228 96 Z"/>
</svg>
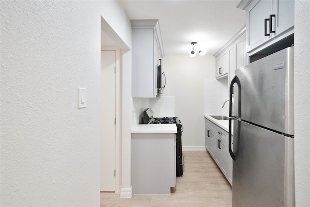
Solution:
<svg viewBox="0 0 310 207">
<path fill-rule="evenodd" d="M 229 183 L 233 184 L 233 159 L 229 154 L 228 132 L 205 118 L 205 146 Z"/>
</svg>

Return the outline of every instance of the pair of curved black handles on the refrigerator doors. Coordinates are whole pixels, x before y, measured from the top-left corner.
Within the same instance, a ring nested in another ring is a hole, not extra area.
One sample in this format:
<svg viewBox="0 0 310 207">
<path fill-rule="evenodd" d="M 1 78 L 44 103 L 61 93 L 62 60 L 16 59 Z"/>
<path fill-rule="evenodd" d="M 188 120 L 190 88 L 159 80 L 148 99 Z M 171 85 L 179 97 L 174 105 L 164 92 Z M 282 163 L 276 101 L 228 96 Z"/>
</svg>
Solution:
<svg viewBox="0 0 310 207">
<path fill-rule="evenodd" d="M 233 160 L 236 160 L 236 154 L 233 153 L 233 150 L 232 150 L 232 120 L 233 119 L 237 119 L 238 117 L 236 116 L 232 116 L 232 106 L 233 106 L 233 90 L 234 90 L 234 87 L 233 87 L 233 84 L 236 83 L 238 85 L 238 116 L 241 117 L 241 84 L 240 84 L 240 80 L 238 79 L 237 76 L 234 76 L 233 77 L 233 80 L 231 82 L 231 85 L 230 85 L 230 93 L 229 93 L 229 133 L 228 133 L 228 136 L 229 136 L 229 154 L 231 155 L 232 159 Z M 238 146 L 235 146 L 235 147 L 238 147 Z"/>
</svg>

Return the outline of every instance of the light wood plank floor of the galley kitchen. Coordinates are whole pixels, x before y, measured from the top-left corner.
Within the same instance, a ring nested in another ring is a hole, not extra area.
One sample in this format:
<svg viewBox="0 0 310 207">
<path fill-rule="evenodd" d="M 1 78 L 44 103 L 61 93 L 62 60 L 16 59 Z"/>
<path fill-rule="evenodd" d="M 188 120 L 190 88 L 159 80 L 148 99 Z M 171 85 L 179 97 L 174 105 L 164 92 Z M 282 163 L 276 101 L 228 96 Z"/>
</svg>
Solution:
<svg viewBox="0 0 310 207">
<path fill-rule="evenodd" d="M 171 195 L 133 195 L 120 198 L 101 192 L 101 207 L 226 207 L 232 206 L 232 189 L 208 152 L 184 151 L 183 176 Z"/>
</svg>

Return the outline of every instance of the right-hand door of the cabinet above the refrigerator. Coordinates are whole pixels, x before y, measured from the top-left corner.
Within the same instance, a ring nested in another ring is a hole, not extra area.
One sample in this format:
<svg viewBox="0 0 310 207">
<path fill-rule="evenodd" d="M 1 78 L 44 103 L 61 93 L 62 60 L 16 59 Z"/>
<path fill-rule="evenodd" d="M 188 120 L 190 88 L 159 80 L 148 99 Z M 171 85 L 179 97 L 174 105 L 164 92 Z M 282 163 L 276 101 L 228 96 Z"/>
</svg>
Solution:
<svg viewBox="0 0 310 207">
<path fill-rule="evenodd" d="M 273 0 L 272 14 L 276 15 L 275 35 L 294 27 L 294 0 Z"/>
</svg>

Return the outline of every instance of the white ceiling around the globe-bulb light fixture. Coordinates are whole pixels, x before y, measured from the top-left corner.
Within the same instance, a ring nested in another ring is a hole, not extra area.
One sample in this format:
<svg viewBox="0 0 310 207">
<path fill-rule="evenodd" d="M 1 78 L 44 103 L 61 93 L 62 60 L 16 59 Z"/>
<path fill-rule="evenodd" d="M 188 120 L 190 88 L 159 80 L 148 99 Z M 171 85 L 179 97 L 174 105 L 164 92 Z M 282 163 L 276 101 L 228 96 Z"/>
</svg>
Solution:
<svg viewBox="0 0 310 207">
<path fill-rule="evenodd" d="M 121 0 L 130 19 L 158 19 L 165 55 L 188 55 L 191 42 L 213 55 L 246 24 L 240 0 Z"/>
</svg>

